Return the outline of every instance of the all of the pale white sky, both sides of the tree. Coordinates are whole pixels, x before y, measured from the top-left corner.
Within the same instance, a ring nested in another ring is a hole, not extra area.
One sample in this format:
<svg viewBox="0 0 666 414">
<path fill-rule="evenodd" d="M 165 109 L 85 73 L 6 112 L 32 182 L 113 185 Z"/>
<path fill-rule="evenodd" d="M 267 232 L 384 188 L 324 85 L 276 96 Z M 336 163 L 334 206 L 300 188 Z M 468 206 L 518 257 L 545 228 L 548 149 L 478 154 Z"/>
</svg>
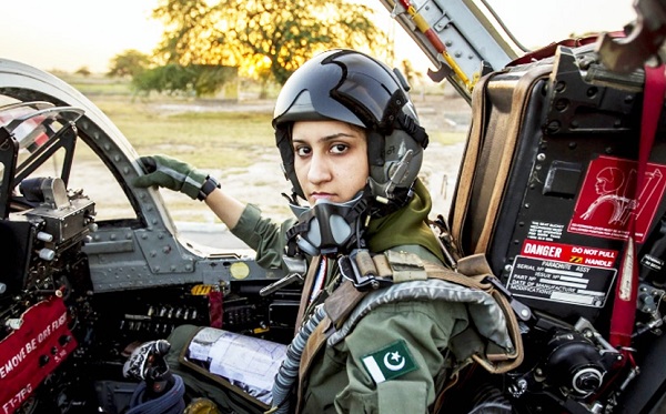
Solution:
<svg viewBox="0 0 666 414">
<path fill-rule="evenodd" d="M 88 67 L 93 72 L 105 72 L 115 54 L 128 49 L 150 53 L 158 44 L 162 26 L 151 18 L 158 1 L 3 1 L 0 57 L 43 70 L 75 71 Z M 632 0 L 492 0 L 492 3 L 498 13 L 506 16 L 506 24 L 514 28 L 523 42 L 535 44 L 561 40 L 581 28 L 619 30 L 636 17 Z M 382 8 L 379 0 L 376 4 Z M 527 18 L 528 9 L 538 18 Z M 389 19 L 389 12 L 382 11 Z"/>
</svg>

